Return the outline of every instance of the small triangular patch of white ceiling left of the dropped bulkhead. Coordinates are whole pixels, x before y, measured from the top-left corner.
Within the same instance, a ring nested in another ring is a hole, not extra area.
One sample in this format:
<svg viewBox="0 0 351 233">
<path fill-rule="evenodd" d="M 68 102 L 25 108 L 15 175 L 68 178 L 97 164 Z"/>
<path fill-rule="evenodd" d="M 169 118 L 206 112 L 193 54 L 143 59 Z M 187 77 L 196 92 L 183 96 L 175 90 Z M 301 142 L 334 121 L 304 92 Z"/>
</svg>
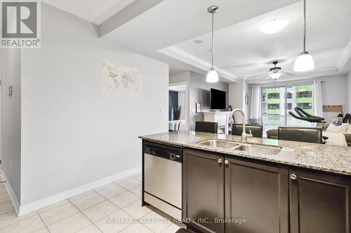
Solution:
<svg viewBox="0 0 351 233">
<path fill-rule="evenodd" d="M 102 24 L 135 0 L 42 0 L 94 24 Z"/>
</svg>

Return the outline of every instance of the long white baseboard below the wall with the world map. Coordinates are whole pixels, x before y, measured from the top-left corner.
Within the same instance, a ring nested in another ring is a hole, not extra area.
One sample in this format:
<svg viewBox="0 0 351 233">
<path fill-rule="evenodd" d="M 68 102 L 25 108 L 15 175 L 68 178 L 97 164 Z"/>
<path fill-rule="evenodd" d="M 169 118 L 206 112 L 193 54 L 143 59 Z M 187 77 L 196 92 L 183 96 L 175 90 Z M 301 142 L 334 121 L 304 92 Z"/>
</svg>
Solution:
<svg viewBox="0 0 351 233">
<path fill-rule="evenodd" d="M 51 204 L 54 204 L 56 202 L 60 202 L 64 199 L 67 199 L 69 197 L 73 197 L 75 195 L 79 195 L 81 194 L 82 192 L 86 192 L 86 191 L 89 191 L 89 190 L 93 190 L 94 188 L 98 188 L 102 185 L 106 185 L 108 183 L 111 183 L 113 181 L 117 181 L 121 178 L 125 178 L 127 176 L 131 176 L 135 173 L 138 173 L 141 171 L 141 167 L 135 167 L 133 169 L 128 169 L 126 171 L 122 171 L 120 172 L 119 174 L 114 174 L 112 176 L 107 176 L 105 178 L 102 178 L 98 181 L 93 181 L 91 183 L 87 183 L 86 185 L 81 185 L 77 188 L 73 188 L 72 190 L 67 190 L 65 192 L 60 192 L 58 193 L 57 195 L 53 195 L 51 197 L 46 197 L 44 199 L 41 199 L 39 201 L 36 201 L 36 202 L 32 202 L 32 203 L 29 203 L 29 204 L 25 204 L 23 206 L 20 206 L 20 209 L 19 209 L 19 212 L 17 211 L 18 213 L 18 216 L 22 216 L 26 213 L 30 213 L 32 211 L 36 211 L 38 209 L 41 209 L 45 206 L 49 206 Z"/>
</svg>

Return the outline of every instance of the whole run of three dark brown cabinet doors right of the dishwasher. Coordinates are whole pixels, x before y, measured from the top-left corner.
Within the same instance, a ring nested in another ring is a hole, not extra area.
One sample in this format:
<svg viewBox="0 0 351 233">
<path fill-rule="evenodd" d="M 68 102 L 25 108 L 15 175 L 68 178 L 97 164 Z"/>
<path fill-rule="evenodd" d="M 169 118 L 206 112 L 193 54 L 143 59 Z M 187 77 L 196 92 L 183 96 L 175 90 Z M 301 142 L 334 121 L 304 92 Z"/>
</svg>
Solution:
<svg viewBox="0 0 351 233">
<path fill-rule="evenodd" d="M 351 178 L 185 149 L 183 218 L 201 232 L 351 233 Z M 224 221 L 225 220 L 225 221 Z"/>
</svg>

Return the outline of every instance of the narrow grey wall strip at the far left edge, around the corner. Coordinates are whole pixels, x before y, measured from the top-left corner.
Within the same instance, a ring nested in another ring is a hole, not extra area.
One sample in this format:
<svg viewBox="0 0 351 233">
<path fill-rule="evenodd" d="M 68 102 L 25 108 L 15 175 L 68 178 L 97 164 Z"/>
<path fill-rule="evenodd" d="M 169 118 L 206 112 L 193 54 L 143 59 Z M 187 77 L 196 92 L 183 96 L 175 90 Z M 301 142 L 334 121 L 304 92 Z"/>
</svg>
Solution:
<svg viewBox="0 0 351 233">
<path fill-rule="evenodd" d="M 20 203 L 20 153 L 21 153 L 21 87 L 20 57 L 18 49 L 0 49 L 1 66 L 1 169 Z M 13 95 L 6 90 L 13 86 Z"/>
</svg>

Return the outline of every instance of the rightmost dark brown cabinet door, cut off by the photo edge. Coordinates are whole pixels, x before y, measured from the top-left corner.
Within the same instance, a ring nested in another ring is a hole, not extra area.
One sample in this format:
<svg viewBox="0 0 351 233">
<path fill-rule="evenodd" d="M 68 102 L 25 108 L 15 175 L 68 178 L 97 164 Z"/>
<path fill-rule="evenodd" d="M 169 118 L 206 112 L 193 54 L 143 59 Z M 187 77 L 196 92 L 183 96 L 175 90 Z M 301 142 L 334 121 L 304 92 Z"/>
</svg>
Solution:
<svg viewBox="0 0 351 233">
<path fill-rule="evenodd" d="M 291 233 L 351 232 L 351 180 L 290 170 Z"/>
</svg>

